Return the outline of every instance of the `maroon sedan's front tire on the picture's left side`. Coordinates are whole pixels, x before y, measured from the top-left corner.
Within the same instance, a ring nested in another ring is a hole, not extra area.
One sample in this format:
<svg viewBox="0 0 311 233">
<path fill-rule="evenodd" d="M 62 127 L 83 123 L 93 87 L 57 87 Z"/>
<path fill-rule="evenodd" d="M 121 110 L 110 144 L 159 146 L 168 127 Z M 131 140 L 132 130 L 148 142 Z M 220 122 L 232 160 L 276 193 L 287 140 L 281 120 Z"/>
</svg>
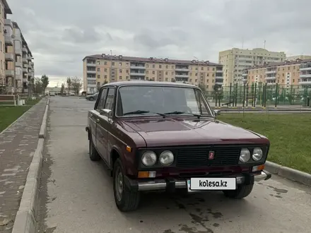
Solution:
<svg viewBox="0 0 311 233">
<path fill-rule="evenodd" d="M 121 181 L 121 184 L 119 183 Z M 117 159 L 113 168 L 113 193 L 117 208 L 129 212 L 139 208 L 141 193 L 131 191 L 124 184 L 124 168 L 121 160 Z"/>
</svg>

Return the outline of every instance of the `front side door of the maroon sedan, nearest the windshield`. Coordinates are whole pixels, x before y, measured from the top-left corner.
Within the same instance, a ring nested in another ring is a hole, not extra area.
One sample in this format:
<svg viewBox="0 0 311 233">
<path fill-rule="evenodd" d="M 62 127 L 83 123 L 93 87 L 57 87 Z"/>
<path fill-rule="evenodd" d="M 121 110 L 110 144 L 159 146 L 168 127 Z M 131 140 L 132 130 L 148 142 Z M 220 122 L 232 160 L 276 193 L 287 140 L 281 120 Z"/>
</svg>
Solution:
<svg viewBox="0 0 311 233">
<path fill-rule="evenodd" d="M 107 97 L 105 100 L 105 105 L 103 109 L 111 110 L 113 109 L 113 103 L 115 100 L 115 88 L 109 87 L 107 90 Z M 98 127 L 98 133 L 100 135 L 100 139 L 98 139 L 98 145 L 100 145 L 102 150 L 102 156 L 109 165 L 110 162 L 110 153 L 108 151 L 108 132 L 109 132 L 109 125 L 111 121 L 111 116 L 113 115 L 113 112 L 105 113 L 102 112 L 99 116 L 99 127 Z"/>
</svg>

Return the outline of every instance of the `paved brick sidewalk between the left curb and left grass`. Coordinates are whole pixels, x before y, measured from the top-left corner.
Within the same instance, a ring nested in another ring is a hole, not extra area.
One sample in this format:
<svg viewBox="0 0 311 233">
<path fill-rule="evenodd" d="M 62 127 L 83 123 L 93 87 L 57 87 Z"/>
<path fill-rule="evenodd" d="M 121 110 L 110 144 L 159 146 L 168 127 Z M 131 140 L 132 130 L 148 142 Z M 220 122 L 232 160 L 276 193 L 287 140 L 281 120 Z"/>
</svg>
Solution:
<svg viewBox="0 0 311 233">
<path fill-rule="evenodd" d="M 0 134 L 0 232 L 11 232 L 33 160 L 46 99 Z"/>
</svg>

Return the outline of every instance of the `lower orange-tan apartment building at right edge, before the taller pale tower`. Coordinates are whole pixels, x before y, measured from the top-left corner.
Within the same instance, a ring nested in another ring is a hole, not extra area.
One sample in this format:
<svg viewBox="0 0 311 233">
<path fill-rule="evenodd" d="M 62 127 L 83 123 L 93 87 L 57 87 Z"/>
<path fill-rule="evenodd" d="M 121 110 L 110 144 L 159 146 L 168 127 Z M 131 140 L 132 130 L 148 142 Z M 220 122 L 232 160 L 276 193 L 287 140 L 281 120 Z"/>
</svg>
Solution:
<svg viewBox="0 0 311 233">
<path fill-rule="evenodd" d="M 279 63 L 253 66 L 242 72 L 245 83 L 267 83 L 267 85 L 291 85 L 311 88 L 311 59 L 296 59 Z"/>
</svg>

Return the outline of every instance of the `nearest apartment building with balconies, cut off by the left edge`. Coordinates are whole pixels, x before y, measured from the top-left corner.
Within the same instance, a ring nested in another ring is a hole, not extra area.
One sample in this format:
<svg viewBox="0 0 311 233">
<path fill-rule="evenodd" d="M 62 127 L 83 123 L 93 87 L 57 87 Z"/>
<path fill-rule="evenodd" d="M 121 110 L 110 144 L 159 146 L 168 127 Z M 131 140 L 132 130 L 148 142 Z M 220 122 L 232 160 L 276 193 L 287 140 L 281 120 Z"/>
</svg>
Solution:
<svg viewBox="0 0 311 233">
<path fill-rule="evenodd" d="M 6 45 L 13 45 L 12 29 L 6 27 L 10 22 L 6 18 L 7 14 L 11 14 L 11 8 L 6 0 L 0 0 L 0 92 L 6 92 L 7 84 L 13 82 L 13 67 L 10 64 L 11 55 L 6 55 Z M 11 32 L 11 33 L 10 33 Z M 8 69 L 6 70 L 6 66 Z"/>
</svg>

